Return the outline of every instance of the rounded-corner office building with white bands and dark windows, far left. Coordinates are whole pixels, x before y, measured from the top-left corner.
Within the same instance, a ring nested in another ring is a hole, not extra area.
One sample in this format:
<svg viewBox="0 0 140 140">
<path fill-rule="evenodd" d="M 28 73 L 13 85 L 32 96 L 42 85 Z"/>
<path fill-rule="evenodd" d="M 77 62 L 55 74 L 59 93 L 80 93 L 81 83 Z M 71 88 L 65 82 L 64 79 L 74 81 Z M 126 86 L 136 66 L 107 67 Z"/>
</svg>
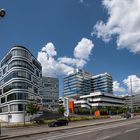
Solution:
<svg viewBox="0 0 140 140">
<path fill-rule="evenodd" d="M 29 100 L 40 102 L 42 67 L 23 46 L 13 47 L 0 62 L 0 119 L 23 122 Z"/>
</svg>

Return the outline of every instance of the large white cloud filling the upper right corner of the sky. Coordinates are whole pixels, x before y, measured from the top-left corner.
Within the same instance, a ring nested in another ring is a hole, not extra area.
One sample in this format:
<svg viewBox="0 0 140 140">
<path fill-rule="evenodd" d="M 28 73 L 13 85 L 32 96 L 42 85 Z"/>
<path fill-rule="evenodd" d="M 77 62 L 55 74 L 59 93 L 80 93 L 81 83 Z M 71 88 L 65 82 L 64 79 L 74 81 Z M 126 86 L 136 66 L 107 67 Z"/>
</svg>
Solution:
<svg viewBox="0 0 140 140">
<path fill-rule="evenodd" d="M 109 17 L 98 21 L 91 34 L 106 42 L 115 35 L 118 49 L 140 52 L 140 0 L 103 0 L 102 4 Z"/>
</svg>

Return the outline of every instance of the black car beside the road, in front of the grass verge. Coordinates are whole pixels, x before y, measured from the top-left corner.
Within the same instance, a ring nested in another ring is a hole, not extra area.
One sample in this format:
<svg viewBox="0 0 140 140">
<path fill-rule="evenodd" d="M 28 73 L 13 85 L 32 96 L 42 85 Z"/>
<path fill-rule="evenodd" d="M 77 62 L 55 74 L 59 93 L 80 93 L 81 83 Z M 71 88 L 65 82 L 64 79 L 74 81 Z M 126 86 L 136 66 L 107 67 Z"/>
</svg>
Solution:
<svg viewBox="0 0 140 140">
<path fill-rule="evenodd" d="M 68 125 L 68 120 L 66 119 L 60 119 L 56 121 L 52 121 L 48 124 L 49 127 L 58 127 L 58 126 L 65 126 Z"/>
</svg>

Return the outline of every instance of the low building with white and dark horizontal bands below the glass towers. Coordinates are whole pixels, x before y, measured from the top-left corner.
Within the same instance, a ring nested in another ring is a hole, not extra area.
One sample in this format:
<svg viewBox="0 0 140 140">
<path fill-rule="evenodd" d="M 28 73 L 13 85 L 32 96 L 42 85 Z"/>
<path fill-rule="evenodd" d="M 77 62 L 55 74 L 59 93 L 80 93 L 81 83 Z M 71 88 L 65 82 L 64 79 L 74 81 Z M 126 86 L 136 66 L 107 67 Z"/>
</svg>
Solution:
<svg viewBox="0 0 140 140">
<path fill-rule="evenodd" d="M 89 95 L 80 96 L 79 100 L 74 101 L 75 107 L 92 108 L 92 107 L 120 107 L 124 106 L 124 99 L 110 93 L 93 92 Z"/>
</svg>

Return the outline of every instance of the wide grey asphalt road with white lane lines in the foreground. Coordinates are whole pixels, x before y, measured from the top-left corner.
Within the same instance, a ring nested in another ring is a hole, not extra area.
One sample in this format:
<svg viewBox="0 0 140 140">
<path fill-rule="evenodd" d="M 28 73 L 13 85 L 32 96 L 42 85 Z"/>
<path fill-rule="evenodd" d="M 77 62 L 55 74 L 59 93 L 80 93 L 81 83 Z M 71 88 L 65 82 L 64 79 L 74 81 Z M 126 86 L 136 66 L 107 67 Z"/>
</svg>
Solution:
<svg viewBox="0 0 140 140">
<path fill-rule="evenodd" d="M 140 140 L 140 119 L 60 130 L 10 140 Z"/>
</svg>

